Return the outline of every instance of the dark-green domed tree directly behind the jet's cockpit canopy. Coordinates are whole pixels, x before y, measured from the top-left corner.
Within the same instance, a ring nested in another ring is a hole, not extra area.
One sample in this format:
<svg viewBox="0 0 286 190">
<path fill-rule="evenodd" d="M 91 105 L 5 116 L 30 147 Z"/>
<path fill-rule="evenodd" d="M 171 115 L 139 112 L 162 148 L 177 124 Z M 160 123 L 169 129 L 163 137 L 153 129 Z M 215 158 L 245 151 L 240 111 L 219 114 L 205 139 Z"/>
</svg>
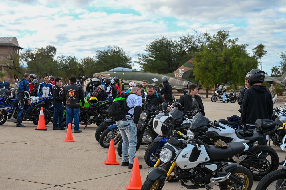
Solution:
<svg viewBox="0 0 286 190">
<path fill-rule="evenodd" d="M 95 72 L 108 71 L 115 67 L 132 68 L 132 58 L 125 51 L 117 46 L 107 46 L 103 50 L 96 50 L 94 56 Z"/>
</svg>

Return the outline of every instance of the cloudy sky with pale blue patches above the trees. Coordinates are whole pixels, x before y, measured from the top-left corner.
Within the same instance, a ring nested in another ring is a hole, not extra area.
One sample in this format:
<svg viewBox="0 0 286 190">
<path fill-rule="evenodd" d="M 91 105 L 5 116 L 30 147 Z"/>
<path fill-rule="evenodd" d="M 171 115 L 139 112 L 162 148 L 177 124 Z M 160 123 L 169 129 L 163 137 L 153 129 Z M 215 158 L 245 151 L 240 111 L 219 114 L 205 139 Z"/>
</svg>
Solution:
<svg viewBox="0 0 286 190">
<path fill-rule="evenodd" d="M 227 30 L 249 44 L 249 53 L 266 46 L 262 70 L 270 75 L 286 51 L 285 13 L 285 0 L 2 0 L 0 37 L 15 36 L 25 49 L 53 45 L 57 56 L 78 58 L 116 45 L 136 61 L 144 45 L 162 35 Z"/>
</svg>

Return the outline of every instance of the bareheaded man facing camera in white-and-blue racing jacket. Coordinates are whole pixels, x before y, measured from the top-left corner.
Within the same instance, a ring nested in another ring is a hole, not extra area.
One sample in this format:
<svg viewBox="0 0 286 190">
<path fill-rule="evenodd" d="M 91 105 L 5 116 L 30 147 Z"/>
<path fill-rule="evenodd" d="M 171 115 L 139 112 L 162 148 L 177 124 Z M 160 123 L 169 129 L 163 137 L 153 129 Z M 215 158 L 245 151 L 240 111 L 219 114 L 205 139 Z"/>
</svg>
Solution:
<svg viewBox="0 0 286 190">
<path fill-rule="evenodd" d="M 47 99 L 45 99 L 45 105 L 44 108 L 47 110 L 50 110 L 50 102 L 51 99 L 53 98 L 53 85 L 51 83 L 49 83 L 49 76 L 45 75 L 44 78 L 45 82 L 42 82 L 39 84 L 38 90 L 37 90 L 37 94 L 39 97 L 48 97 Z M 41 105 L 41 107 L 43 107 L 43 105 Z"/>
</svg>

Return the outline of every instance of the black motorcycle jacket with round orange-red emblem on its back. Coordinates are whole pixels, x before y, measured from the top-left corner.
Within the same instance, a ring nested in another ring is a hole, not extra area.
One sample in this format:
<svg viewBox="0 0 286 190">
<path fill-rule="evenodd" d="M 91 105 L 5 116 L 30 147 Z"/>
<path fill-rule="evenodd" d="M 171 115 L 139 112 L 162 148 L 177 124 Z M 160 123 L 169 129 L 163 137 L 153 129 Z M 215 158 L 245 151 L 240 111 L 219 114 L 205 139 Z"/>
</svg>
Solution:
<svg viewBox="0 0 286 190">
<path fill-rule="evenodd" d="M 72 83 L 63 90 L 61 100 L 66 107 L 80 108 L 80 101 L 84 106 L 84 92 L 79 86 Z"/>
</svg>

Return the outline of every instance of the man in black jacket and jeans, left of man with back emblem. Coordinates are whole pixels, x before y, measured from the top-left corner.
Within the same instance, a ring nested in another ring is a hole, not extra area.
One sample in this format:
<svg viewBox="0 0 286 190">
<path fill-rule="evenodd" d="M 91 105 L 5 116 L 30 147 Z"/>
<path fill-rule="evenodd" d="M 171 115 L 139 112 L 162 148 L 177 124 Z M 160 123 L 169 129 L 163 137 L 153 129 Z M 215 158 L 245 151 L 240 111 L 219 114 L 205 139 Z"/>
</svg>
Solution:
<svg viewBox="0 0 286 190">
<path fill-rule="evenodd" d="M 61 100 L 61 78 L 55 79 L 55 86 L 53 87 L 53 130 L 65 130 L 63 127 L 63 105 Z"/>
</svg>

